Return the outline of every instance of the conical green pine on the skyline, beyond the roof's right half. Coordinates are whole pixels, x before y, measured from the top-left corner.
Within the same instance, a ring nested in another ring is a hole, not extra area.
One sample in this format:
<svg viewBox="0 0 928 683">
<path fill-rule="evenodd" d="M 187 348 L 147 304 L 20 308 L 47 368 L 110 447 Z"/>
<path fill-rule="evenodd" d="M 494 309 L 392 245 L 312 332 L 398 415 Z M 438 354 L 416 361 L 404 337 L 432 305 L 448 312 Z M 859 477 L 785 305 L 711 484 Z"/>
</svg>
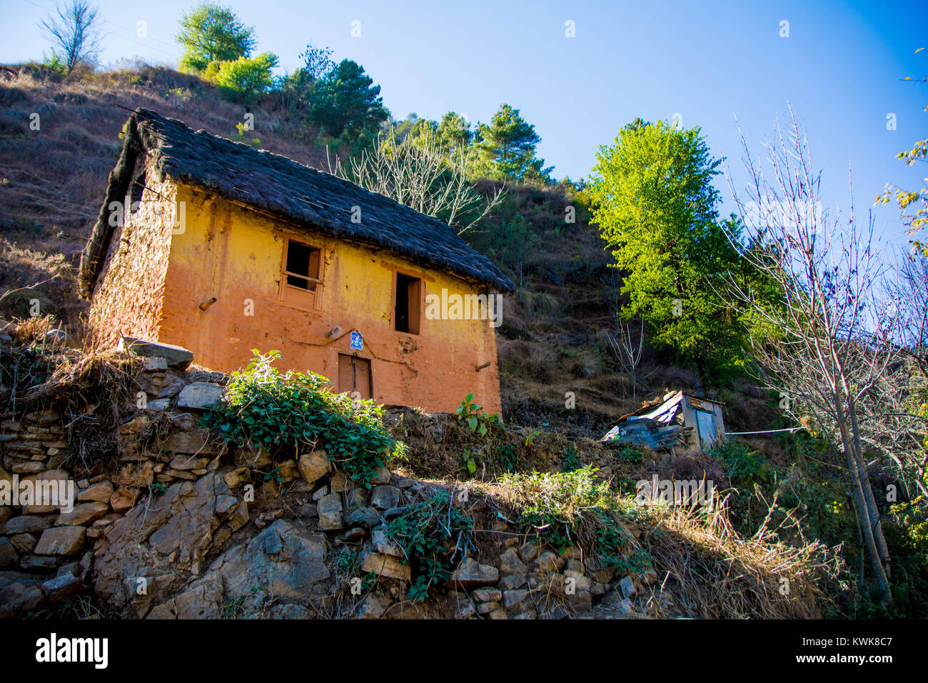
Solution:
<svg viewBox="0 0 928 683">
<path fill-rule="evenodd" d="M 548 179 L 552 166 L 542 168 L 545 160 L 535 158 L 541 138 L 518 109 L 503 104 L 490 125 L 477 125 L 477 133 L 484 173 L 515 180 Z"/>
</svg>

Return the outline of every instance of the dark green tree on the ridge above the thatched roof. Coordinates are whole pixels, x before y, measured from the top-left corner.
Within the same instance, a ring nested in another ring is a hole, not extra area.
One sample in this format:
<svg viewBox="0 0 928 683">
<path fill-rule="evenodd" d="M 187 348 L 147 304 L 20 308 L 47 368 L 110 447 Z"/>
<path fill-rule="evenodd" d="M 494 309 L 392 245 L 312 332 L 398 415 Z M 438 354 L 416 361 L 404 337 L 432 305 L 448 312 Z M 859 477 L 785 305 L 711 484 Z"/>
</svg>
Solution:
<svg viewBox="0 0 928 683">
<path fill-rule="evenodd" d="M 342 59 L 319 83 L 310 118 L 333 138 L 376 136 L 390 116 L 380 98 L 380 85 L 351 59 Z"/>
</svg>

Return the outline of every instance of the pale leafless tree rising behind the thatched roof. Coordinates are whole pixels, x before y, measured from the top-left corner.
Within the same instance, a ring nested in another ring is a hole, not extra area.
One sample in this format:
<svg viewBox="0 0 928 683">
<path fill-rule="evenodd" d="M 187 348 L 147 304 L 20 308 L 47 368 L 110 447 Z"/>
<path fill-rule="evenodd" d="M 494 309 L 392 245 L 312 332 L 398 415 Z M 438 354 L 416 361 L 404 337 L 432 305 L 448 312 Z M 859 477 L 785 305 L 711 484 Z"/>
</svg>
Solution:
<svg viewBox="0 0 928 683">
<path fill-rule="evenodd" d="M 470 147 L 445 151 L 436 136 L 426 132 L 400 143 L 379 141 L 372 151 L 348 161 L 329 161 L 329 172 L 372 192 L 391 197 L 419 213 L 437 217 L 458 230 L 470 230 L 502 201 L 503 191 L 483 197 L 468 180 L 473 164 Z"/>
</svg>

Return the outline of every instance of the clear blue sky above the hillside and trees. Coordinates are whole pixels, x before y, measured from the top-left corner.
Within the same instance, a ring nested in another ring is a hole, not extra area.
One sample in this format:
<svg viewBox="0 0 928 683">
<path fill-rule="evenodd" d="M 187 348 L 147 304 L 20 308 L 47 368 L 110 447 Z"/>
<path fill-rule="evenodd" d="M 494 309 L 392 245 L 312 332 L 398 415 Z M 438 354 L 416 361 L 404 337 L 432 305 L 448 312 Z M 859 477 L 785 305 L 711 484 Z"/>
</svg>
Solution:
<svg viewBox="0 0 928 683">
<path fill-rule="evenodd" d="M 108 33 L 102 61 L 176 63 L 177 20 L 194 4 L 99 0 Z M 488 121 L 509 102 L 535 124 L 538 153 L 555 177 L 585 177 L 598 146 L 636 116 L 675 114 L 702 126 L 715 155 L 739 172 L 735 114 L 759 151 L 790 103 L 824 169 L 830 204 L 847 203 L 849 165 L 858 210 L 887 182 L 923 184 L 923 166 L 907 168 L 896 153 L 928 134 L 928 87 L 901 80 L 928 75 L 928 49 L 914 54 L 928 47 L 928 0 L 223 4 L 255 27 L 258 51 L 275 52 L 288 71 L 307 41 L 362 64 L 395 118 L 454 110 Z M 51 7 L 53 0 L 0 0 L 0 62 L 42 58 L 47 44 L 35 24 Z M 780 37 L 784 20 L 788 37 Z M 354 21 L 360 37 L 352 37 Z M 896 130 L 887 130 L 891 113 Z M 727 183 L 717 185 L 730 210 Z M 876 216 L 887 236 L 901 230 L 892 207 Z"/>
</svg>

